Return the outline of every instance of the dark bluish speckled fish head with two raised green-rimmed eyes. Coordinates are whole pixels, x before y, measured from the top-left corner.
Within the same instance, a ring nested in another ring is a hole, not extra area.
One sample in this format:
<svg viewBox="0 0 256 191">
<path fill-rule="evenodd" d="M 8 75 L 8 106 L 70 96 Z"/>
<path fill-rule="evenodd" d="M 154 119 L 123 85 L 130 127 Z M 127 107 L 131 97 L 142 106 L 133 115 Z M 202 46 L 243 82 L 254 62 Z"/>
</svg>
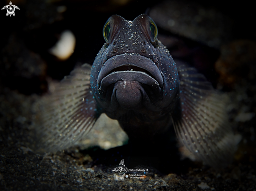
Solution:
<svg viewBox="0 0 256 191">
<path fill-rule="evenodd" d="M 106 43 L 91 70 L 94 97 L 106 114 L 120 110 L 171 108 L 179 89 L 176 65 L 157 39 L 157 26 L 148 15 L 133 21 L 111 16 L 104 28 Z"/>
</svg>

